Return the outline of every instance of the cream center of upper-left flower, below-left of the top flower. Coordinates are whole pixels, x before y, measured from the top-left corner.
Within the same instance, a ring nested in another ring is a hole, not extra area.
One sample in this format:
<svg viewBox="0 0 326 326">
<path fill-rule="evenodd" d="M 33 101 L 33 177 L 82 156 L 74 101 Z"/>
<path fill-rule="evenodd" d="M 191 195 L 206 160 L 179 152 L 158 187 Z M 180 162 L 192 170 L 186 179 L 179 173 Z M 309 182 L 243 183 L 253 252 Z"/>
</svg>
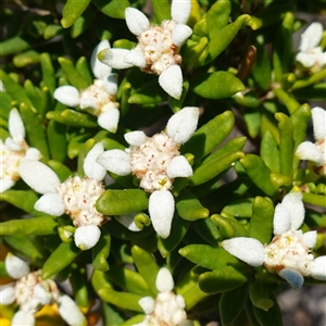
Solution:
<svg viewBox="0 0 326 326">
<path fill-rule="evenodd" d="M 80 91 L 79 105 L 80 109 L 88 109 L 89 113 L 97 116 L 111 108 L 118 108 L 115 97 L 105 90 L 101 79 L 95 79 L 92 85 Z"/>
</svg>

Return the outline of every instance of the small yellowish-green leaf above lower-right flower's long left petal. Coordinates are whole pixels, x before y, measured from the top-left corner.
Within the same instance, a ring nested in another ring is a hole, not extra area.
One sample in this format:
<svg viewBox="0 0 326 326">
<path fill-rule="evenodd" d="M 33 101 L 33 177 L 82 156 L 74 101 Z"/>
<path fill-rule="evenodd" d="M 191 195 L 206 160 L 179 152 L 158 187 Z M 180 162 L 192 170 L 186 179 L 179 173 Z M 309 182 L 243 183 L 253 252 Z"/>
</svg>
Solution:
<svg viewBox="0 0 326 326">
<path fill-rule="evenodd" d="M 246 228 L 234 217 L 225 217 L 218 214 L 211 216 L 212 222 L 218 226 L 220 233 L 224 238 L 247 237 Z"/>
</svg>

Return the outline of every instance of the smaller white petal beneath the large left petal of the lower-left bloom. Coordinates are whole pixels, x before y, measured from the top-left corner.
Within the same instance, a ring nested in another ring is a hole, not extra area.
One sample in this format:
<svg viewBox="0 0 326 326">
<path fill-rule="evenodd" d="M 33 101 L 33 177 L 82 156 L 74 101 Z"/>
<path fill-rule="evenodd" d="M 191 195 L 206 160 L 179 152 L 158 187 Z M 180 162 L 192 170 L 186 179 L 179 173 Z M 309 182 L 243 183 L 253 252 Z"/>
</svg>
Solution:
<svg viewBox="0 0 326 326">
<path fill-rule="evenodd" d="M 65 205 L 59 193 L 45 193 L 35 204 L 34 208 L 52 216 L 61 216 L 65 212 Z"/>
</svg>

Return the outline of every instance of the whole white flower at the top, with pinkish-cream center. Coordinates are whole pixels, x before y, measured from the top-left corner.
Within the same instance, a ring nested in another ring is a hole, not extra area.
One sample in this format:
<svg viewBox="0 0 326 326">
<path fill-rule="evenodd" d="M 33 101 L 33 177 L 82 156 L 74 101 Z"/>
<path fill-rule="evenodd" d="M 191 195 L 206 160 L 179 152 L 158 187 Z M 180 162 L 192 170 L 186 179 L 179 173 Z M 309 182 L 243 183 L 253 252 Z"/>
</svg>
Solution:
<svg viewBox="0 0 326 326">
<path fill-rule="evenodd" d="M 129 50 L 106 49 L 99 59 L 114 67 L 128 68 L 138 66 L 143 72 L 159 75 L 161 87 L 173 98 L 179 99 L 183 92 L 180 47 L 192 34 L 186 25 L 191 11 L 190 0 L 173 0 L 171 21 L 163 21 L 160 26 L 150 25 L 147 16 L 139 10 L 128 7 L 125 10 L 126 24 L 137 36 L 138 45 Z"/>
</svg>

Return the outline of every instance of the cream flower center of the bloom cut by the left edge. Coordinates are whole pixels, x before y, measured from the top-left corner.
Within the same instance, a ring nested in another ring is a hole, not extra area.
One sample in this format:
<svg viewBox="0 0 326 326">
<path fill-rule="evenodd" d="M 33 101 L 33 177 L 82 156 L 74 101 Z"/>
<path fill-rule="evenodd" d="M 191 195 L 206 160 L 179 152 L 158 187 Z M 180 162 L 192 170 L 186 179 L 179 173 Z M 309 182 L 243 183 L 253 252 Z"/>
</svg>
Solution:
<svg viewBox="0 0 326 326">
<path fill-rule="evenodd" d="M 18 166 L 22 159 L 25 158 L 27 145 L 23 143 L 23 149 L 13 151 L 0 141 L 0 179 L 11 179 L 17 181 L 21 176 L 18 174 Z"/>
</svg>

